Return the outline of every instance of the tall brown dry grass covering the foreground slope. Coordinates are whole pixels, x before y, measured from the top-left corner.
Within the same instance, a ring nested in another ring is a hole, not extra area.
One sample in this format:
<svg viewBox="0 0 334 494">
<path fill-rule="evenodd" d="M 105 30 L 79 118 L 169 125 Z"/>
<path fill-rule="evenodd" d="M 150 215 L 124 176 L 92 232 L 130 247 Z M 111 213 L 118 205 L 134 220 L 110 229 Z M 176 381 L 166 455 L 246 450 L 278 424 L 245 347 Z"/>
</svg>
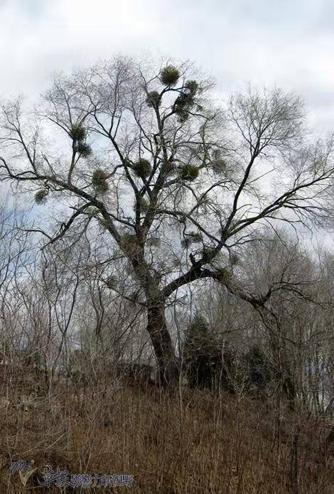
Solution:
<svg viewBox="0 0 334 494">
<path fill-rule="evenodd" d="M 1 493 L 60 492 L 38 487 L 34 476 L 23 489 L 17 475 L 9 477 L 18 458 L 70 473 L 129 473 L 132 493 L 334 492 L 332 460 L 320 461 L 326 430 L 308 417 L 278 422 L 274 411 L 230 394 L 172 396 L 114 385 L 76 390 L 63 383 L 20 404 L 29 386 L 29 380 L 2 379 L 9 404 L 0 409 Z"/>
</svg>

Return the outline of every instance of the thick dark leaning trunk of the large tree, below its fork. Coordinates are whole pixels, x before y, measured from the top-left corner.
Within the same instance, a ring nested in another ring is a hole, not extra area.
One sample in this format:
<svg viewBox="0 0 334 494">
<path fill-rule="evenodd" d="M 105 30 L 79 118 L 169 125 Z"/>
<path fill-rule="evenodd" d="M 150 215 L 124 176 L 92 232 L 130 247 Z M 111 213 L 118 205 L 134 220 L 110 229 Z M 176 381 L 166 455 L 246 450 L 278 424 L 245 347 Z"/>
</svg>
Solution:
<svg viewBox="0 0 334 494">
<path fill-rule="evenodd" d="M 147 308 L 147 331 L 158 363 L 159 383 L 162 387 L 173 387 L 178 382 L 180 368 L 168 332 L 163 304 L 149 305 Z"/>
</svg>

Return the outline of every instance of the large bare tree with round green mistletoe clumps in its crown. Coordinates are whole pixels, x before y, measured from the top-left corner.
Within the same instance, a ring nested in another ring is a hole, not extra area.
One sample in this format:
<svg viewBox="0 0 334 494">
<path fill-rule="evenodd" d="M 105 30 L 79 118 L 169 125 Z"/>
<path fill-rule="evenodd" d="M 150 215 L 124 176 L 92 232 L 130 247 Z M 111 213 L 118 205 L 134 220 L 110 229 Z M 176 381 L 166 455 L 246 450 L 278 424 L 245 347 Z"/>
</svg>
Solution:
<svg viewBox="0 0 334 494">
<path fill-rule="evenodd" d="M 2 105 L 1 180 L 48 200 L 46 243 L 99 235 L 111 289 L 126 264 L 164 385 L 178 375 L 166 306 L 184 287 L 210 278 L 264 306 L 285 284 L 238 284 L 239 247 L 264 224 L 332 216 L 333 143 L 312 141 L 298 97 L 249 88 L 223 104 L 212 87 L 188 63 L 121 57 L 57 75 L 36 112 Z"/>
</svg>

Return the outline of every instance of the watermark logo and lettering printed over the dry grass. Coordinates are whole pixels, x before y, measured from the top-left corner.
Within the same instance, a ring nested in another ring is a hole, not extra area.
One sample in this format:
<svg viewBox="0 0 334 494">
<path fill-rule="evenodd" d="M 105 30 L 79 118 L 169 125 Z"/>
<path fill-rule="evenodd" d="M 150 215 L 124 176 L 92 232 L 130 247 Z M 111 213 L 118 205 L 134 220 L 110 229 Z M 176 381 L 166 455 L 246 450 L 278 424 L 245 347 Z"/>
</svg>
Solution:
<svg viewBox="0 0 334 494">
<path fill-rule="evenodd" d="M 11 463 L 10 475 L 18 473 L 21 483 L 26 487 L 28 478 L 30 478 L 38 468 L 33 468 L 33 460 L 27 463 L 25 460 L 18 460 Z M 68 473 L 68 470 L 60 470 L 46 465 L 38 476 L 38 484 L 45 487 L 71 487 L 71 488 L 111 488 L 111 487 L 132 487 L 134 476 L 132 475 L 107 475 L 90 474 L 90 473 Z"/>
</svg>

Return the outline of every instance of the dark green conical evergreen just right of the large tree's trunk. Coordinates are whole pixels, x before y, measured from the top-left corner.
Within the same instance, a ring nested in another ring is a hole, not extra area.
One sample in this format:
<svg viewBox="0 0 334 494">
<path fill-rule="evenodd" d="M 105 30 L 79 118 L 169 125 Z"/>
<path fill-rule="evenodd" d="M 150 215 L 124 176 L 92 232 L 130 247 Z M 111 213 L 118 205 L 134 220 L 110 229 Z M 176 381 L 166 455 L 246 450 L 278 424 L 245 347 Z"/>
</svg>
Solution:
<svg viewBox="0 0 334 494">
<path fill-rule="evenodd" d="M 183 343 L 183 369 L 190 387 L 232 391 L 235 353 L 210 331 L 203 316 L 196 314 Z"/>
</svg>

